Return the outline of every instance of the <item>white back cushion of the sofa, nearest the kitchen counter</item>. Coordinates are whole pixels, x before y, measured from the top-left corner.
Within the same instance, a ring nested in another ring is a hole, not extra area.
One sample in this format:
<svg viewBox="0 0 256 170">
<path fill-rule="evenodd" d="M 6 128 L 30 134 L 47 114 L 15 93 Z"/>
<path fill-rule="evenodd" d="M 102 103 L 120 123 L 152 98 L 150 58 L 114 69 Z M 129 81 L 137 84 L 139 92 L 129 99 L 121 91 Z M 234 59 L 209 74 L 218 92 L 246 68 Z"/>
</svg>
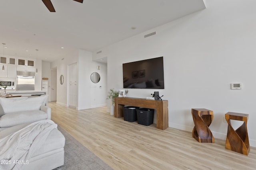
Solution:
<svg viewBox="0 0 256 170">
<path fill-rule="evenodd" d="M 4 110 L 4 114 L 16 111 L 40 110 L 40 106 L 47 97 L 46 95 L 31 98 L 0 98 L 0 104 Z"/>
</svg>

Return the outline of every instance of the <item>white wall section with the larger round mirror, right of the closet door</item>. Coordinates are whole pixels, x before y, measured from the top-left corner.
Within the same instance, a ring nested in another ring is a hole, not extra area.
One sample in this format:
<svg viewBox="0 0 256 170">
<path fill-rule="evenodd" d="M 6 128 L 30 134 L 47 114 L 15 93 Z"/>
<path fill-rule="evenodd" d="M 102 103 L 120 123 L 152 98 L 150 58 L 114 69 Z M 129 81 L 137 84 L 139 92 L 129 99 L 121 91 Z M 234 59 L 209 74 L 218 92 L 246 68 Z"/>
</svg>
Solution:
<svg viewBox="0 0 256 170">
<path fill-rule="evenodd" d="M 97 70 L 98 65 L 100 65 L 100 70 Z M 92 52 L 79 50 L 78 110 L 106 106 L 106 70 L 106 64 L 92 61 Z M 100 74 L 98 83 L 90 80 L 93 72 Z"/>
</svg>

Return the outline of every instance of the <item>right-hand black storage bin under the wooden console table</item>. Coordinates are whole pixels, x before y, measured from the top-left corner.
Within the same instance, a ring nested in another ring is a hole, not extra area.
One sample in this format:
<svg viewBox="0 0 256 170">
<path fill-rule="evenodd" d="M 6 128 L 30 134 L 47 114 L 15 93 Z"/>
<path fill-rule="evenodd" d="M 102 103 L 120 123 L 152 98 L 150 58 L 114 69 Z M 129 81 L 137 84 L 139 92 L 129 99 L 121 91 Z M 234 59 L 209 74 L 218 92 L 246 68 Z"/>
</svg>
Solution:
<svg viewBox="0 0 256 170">
<path fill-rule="evenodd" d="M 154 121 L 154 109 L 140 108 L 137 109 L 138 124 L 151 125 Z"/>
</svg>

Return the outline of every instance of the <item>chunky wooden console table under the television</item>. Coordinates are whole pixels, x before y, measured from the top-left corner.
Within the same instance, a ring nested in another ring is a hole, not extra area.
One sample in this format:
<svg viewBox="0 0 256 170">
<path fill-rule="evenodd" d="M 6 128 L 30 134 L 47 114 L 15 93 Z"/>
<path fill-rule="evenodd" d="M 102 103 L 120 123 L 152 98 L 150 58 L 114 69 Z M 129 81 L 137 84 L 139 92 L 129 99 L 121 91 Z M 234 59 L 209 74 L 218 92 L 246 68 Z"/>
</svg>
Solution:
<svg viewBox="0 0 256 170">
<path fill-rule="evenodd" d="M 123 117 L 124 105 L 156 109 L 156 128 L 164 130 L 168 125 L 168 100 L 146 100 L 141 98 L 115 98 L 114 116 Z"/>
</svg>

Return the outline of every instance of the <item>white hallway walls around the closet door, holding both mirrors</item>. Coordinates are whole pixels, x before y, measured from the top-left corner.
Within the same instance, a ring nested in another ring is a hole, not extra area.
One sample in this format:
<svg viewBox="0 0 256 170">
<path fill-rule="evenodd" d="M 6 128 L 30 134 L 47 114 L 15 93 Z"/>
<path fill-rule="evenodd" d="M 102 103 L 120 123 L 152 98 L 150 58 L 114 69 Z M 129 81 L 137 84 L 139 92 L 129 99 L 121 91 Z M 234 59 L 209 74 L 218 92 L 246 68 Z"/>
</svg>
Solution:
<svg viewBox="0 0 256 170">
<path fill-rule="evenodd" d="M 65 58 L 51 63 L 51 68 L 57 67 L 57 102 L 67 106 L 68 88 L 68 65 L 78 64 L 78 106 L 77 109 L 88 109 L 92 107 L 106 106 L 106 64 L 92 61 L 92 53 L 89 51 L 78 50 L 74 57 Z M 97 70 L 97 65 L 101 66 Z M 100 82 L 94 84 L 90 80 L 92 72 L 100 74 Z M 59 83 L 59 77 L 63 74 L 64 83 Z M 99 86 L 102 86 L 100 88 Z"/>
</svg>

